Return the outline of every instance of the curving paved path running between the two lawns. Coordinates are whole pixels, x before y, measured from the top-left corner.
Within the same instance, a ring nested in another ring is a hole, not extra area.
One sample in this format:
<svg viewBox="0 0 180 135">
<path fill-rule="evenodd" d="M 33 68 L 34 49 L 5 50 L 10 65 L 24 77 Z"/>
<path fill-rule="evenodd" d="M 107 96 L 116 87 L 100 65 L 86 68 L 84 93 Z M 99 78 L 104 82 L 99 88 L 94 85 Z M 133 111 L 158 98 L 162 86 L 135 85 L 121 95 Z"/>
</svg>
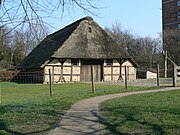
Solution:
<svg viewBox="0 0 180 135">
<path fill-rule="evenodd" d="M 59 126 L 49 135 L 104 135 L 108 134 L 106 127 L 100 123 L 99 103 L 113 98 L 128 95 L 154 93 L 161 91 L 177 90 L 178 88 L 165 88 L 147 91 L 135 91 L 119 94 L 111 94 L 93 97 L 79 101 L 72 105 L 71 109 L 63 116 Z M 180 89 L 180 88 L 179 88 Z"/>
</svg>

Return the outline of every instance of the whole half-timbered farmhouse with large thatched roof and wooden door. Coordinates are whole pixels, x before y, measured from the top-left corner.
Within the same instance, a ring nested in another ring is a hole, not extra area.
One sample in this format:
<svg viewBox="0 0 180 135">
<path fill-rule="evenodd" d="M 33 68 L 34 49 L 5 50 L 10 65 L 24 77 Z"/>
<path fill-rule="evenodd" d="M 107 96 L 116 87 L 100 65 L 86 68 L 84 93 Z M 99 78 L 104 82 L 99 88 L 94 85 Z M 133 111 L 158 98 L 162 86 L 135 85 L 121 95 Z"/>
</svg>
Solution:
<svg viewBox="0 0 180 135">
<path fill-rule="evenodd" d="M 137 64 L 91 17 L 82 18 L 47 36 L 18 66 L 31 79 L 52 82 L 136 79 Z M 49 70 L 50 69 L 50 70 Z M 93 70 L 92 70 L 93 69 Z M 36 73 L 41 73 L 37 77 Z M 38 79 L 37 79 L 38 78 Z"/>
</svg>

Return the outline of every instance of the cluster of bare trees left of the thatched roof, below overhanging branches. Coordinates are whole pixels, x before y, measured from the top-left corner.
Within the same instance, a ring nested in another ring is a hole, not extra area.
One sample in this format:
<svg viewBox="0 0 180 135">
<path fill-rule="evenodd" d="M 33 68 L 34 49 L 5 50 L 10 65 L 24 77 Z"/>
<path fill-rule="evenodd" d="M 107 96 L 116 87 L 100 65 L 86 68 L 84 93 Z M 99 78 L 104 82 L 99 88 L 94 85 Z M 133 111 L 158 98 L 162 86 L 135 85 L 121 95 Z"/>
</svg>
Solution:
<svg viewBox="0 0 180 135">
<path fill-rule="evenodd" d="M 29 29 L 26 31 L 16 29 L 6 34 L 9 29 L 3 27 L 0 31 L 0 67 L 4 69 L 18 65 L 48 34 L 48 31 L 41 31 L 41 29 L 34 31 L 35 37 Z"/>
</svg>

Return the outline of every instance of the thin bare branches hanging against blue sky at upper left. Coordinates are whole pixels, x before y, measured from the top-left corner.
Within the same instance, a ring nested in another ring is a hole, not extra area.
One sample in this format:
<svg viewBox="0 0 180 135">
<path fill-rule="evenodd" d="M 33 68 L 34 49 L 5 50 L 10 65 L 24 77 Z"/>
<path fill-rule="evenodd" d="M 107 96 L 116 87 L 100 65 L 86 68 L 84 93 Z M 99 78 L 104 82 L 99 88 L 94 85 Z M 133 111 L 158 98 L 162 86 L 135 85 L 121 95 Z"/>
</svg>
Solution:
<svg viewBox="0 0 180 135">
<path fill-rule="evenodd" d="M 9 33 L 28 26 L 33 33 L 37 28 L 44 29 L 42 24 L 46 24 L 46 18 L 57 17 L 53 15 L 55 11 L 61 13 L 60 18 L 73 8 L 92 14 L 95 14 L 94 9 L 98 9 L 91 0 L 0 0 L 0 28 L 11 26 Z"/>
</svg>

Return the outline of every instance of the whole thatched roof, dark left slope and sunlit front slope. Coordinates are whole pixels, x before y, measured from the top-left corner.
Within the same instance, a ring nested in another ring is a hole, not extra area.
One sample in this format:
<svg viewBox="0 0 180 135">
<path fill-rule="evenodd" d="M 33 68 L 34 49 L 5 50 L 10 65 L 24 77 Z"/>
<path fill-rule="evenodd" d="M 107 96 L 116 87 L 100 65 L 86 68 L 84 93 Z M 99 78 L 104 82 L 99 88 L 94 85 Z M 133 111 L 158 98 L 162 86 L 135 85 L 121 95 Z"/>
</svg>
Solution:
<svg viewBox="0 0 180 135">
<path fill-rule="evenodd" d="M 131 59 L 91 17 L 47 36 L 19 68 L 43 68 L 52 58 Z"/>
</svg>

